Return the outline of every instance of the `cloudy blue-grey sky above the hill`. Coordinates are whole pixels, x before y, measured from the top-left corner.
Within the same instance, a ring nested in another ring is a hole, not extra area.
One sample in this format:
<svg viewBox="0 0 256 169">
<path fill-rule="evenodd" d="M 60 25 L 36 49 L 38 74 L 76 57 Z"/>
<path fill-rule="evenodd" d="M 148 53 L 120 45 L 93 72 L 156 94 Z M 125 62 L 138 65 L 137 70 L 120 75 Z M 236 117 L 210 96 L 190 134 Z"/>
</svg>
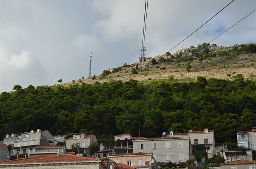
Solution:
<svg viewBox="0 0 256 169">
<path fill-rule="evenodd" d="M 232 0 L 149 0 L 146 57 L 170 51 Z M 140 57 L 145 0 L 0 0 L 0 93 L 72 82 Z M 235 0 L 174 51 L 208 43 L 256 9 Z M 256 42 L 256 12 L 211 42 Z M 173 53 L 173 49 L 170 51 Z"/>
</svg>

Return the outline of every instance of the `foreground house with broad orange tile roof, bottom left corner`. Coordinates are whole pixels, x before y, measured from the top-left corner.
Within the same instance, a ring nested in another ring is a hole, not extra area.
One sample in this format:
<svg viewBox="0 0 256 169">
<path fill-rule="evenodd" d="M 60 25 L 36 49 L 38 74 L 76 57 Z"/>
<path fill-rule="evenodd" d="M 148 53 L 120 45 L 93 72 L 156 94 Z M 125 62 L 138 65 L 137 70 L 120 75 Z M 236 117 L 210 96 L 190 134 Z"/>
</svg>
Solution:
<svg viewBox="0 0 256 169">
<path fill-rule="evenodd" d="M 1 169 L 108 169 L 100 160 L 78 155 L 43 155 L 0 161 Z"/>
</svg>

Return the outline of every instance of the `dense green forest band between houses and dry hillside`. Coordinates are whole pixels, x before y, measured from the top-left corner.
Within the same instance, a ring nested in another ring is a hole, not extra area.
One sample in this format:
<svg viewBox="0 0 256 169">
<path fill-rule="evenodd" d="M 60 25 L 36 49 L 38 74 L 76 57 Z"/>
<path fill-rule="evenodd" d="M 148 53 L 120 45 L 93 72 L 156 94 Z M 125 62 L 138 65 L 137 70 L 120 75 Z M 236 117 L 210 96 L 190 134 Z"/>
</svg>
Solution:
<svg viewBox="0 0 256 169">
<path fill-rule="evenodd" d="M 197 77 L 196 82 L 136 80 L 93 85 L 32 85 L 0 94 L 0 136 L 49 130 L 160 137 L 162 132 L 214 130 L 216 143 L 236 142 L 236 132 L 256 126 L 256 82 Z"/>
</svg>

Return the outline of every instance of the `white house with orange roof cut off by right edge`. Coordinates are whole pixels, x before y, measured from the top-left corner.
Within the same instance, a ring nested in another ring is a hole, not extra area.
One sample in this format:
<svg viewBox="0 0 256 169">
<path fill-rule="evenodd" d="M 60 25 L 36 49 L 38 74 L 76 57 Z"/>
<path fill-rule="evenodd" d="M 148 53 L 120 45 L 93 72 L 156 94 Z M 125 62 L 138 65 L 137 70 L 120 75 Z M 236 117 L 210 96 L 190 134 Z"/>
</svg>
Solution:
<svg viewBox="0 0 256 169">
<path fill-rule="evenodd" d="M 256 150 L 256 127 L 252 127 L 249 131 L 238 131 L 236 136 L 238 146 Z"/>
</svg>

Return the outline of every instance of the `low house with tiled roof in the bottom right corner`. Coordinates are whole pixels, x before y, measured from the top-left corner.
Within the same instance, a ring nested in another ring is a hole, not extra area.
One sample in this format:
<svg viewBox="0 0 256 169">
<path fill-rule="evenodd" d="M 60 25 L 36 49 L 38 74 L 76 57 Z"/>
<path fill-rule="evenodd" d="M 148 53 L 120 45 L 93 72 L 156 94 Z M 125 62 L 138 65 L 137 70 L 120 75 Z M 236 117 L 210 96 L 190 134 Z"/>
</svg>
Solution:
<svg viewBox="0 0 256 169">
<path fill-rule="evenodd" d="M 240 159 L 220 164 L 220 169 L 255 169 L 256 161 Z"/>
</svg>

